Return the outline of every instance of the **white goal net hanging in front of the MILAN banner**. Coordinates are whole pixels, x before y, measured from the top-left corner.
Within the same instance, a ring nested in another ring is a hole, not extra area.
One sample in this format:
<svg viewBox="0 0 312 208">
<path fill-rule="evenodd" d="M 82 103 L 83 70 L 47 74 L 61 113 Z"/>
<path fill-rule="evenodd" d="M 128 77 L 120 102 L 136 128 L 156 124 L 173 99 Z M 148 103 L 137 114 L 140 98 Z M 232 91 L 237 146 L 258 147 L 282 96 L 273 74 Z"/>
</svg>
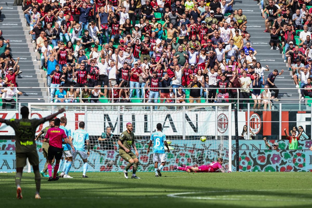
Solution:
<svg viewBox="0 0 312 208">
<path fill-rule="evenodd" d="M 155 106 L 158 108 L 155 109 Z M 133 124 L 136 147 L 139 152 L 139 171 L 154 171 L 152 148 L 147 154 L 147 147 L 157 123 L 163 126 L 170 152 L 164 171 L 173 171 L 174 165 L 186 164 L 199 166 L 210 164 L 217 157 L 222 157 L 223 168 L 232 169 L 231 150 L 231 105 L 230 104 L 29 104 L 31 118 L 42 118 L 65 107 L 67 126 L 71 132 L 78 129 L 80 121 L 85 122 L 89 133 L 90 157 L 88 171 L 123 171 L 127 162 L 119 157 L 117 144 L 119 135 L 126 130 L 126 123 Z M 48 126 L 46 122 L 41 129 Z M 107 133 L 111 130 L 111 134 Z M 206 141 L 200 138 L 205 136 Z M 40 169 L 46 162 L 42 154 L 41 135 L 37 142 Z M 99 141 L 99 138 L 102 141 Z M 103 140 L 105 139 L 105 140 Z M 71 171 L 82 172 L 83 162 L 79 156 L 73 162 Z M 29 171 L 29 170 L 28 170 Z"/>
</svg>

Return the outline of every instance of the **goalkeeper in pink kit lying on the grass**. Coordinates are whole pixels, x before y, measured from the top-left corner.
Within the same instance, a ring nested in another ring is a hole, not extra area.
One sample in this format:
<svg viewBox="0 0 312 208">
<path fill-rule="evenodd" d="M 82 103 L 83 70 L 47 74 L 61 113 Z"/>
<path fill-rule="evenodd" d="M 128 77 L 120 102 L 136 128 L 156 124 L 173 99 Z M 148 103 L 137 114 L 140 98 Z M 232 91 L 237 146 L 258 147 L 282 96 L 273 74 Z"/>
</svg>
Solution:
<svg viewBox="0 0 312 208">
<path fill-rule="evenodd" d="M 198 167 L 187 166 L 181 164 L 181 167 L 174 166 L 173 169 L 181 170 L 185 172 L 225 172 L 222 168 L 223 159 L 218 157 L 217 161 L 210 163 L 209 165 L 201 165 Z"/>
</svg>

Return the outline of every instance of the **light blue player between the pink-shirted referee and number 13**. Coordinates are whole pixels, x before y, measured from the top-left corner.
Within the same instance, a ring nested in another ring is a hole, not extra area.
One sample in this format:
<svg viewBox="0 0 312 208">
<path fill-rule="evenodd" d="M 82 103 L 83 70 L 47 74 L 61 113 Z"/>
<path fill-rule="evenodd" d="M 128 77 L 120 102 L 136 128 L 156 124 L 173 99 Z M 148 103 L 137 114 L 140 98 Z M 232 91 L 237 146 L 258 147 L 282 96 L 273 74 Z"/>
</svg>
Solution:
<svg viewBox="0 0 312 208">
<path fill-rule="evenodd" d="M 60 128 L 65 131 L 66 136 L 68 137 L 68 144 L 63 144 L 63 157 L 61 160 L 66 158 L 66 161 L 63 163 L 63 171 L 61 172 L 61 177 L 63 178 L 73 178 L 68 175 L 68 172 L 71 169 L 71 165 L 73 164 L 73 152 L 75 152 L 75 148 L 72 144 L 72 138 L 71 138 L 71 129 L 67 128 L 67 118 L 65 116 L 62 116 L 61 118 L 61 125 Z M 73 152 L 71 151 L 73 149 Z M 61 166 L 60 166 L 61 167 Z M 60 168 L 59 167 L 59 168 Z"/>
</svg>

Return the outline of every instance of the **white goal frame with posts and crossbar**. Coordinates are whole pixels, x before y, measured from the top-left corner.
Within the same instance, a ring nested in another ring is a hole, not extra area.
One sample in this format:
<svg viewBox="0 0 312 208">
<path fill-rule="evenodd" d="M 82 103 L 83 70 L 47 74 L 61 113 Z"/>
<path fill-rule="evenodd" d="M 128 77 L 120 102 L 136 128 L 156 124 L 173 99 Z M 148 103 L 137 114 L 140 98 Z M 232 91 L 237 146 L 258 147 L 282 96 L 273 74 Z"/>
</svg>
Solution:
<svg viewBox="0 0 312 208">
<path fill-rule="evenodd" d="M 30 110 L 29 119 L 31 119 L 31 109 L 32 106 L 85 106 L 85 109 L 89 106 L 150 106 L 149 110 L 151 112 L 154 110 L 152 106 L 171 106 L 171 107 L 213 107 L 213 106 L 227 106 L 228 107 L 228 170 L 232 171 L 232 103 L 28 103 L 28 108 Z M 53 110 L 53 109 L 51 109 Z M 120 110 L 120 109 L 119 109 Z M 85 119 L 86 120 L 86 119 Z M 216 123 L 217 126 L 217 123 Z M 153 129 L 153 128 L 151 128 Z M 217 128 L 216 128 L 217 129 Z M 85 123 L 85 130 L 87 130 L 87 122 Z M 152 132 L 151 132 L 152 133 Z M 183 131 L 185 134 L 185 131 Z M 183 135 L 185 136 L 185 135 Z M 28 163 L 28 172 L 30 172 L 31 167 Z"/>
</svg>

